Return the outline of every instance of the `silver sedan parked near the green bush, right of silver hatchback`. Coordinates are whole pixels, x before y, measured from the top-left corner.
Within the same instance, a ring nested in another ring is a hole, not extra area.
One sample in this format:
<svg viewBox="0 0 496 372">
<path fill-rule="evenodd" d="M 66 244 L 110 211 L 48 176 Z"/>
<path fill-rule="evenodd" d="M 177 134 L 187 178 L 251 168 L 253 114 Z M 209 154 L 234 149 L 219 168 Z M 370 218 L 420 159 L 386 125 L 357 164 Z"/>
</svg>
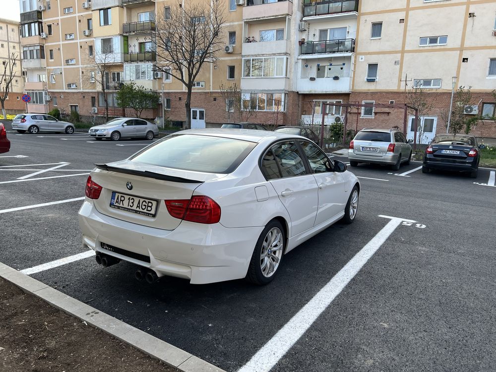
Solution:
<svg viewBox="0 0 496 372">
<path fill-rule="evenodd" d="M 106 124 L 92 126 L 88 131 L 95 139 L 109 138 L 119 141 L 121 138 L 146 138 L 152 140 L 158 135 L 157 124 L 139 118 L 117 118 Z"/>
</svg>

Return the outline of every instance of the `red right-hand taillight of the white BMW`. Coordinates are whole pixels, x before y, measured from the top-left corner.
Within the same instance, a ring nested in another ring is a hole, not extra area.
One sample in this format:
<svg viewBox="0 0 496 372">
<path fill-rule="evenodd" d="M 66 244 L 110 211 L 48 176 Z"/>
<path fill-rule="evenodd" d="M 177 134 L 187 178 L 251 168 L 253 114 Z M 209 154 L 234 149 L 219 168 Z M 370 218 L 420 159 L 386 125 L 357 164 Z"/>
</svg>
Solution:
<svg viewBox="0 0 496 372">
<path fill-rule="evenodd" d="M 220 221 L 220 206 L 204 195 L 193 196 L 190 200 L 165 200 L 172 217 L 200 224 L 216 224 Z"/>
</svg>

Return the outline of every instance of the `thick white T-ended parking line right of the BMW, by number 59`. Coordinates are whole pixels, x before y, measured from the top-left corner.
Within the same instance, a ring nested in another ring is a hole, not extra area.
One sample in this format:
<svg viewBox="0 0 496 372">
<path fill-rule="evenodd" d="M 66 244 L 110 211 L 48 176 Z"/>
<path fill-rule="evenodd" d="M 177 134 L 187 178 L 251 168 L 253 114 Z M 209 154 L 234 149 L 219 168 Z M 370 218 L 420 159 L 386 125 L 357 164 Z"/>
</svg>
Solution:
<svg viewBox="0 0 496 372">
<path fill-rule="evenodd" d="M 295 342 L 303 336 L 317 317 L 332 303 L 353 277 L 357 275 L 393 231 L 403 221 L 416 222 L 397 217 L 379 217 L 390 218 L 391 220 L 239 372 L 269 372 Z"/>
</svg>

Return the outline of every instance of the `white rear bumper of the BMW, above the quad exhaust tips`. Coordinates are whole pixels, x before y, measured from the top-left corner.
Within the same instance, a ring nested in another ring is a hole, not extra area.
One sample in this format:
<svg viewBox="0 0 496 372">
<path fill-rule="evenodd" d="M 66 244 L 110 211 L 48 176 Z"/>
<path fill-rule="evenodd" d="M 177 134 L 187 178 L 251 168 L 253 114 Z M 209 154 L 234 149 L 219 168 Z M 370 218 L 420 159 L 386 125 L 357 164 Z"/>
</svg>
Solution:
<svg viewBox="0 0 496 372">
<path fill-rule="evenodd" d="M 83 245 L 154 270 L 158 276 L 206 284 L 246 276 L 263 227 L 229 229 L 221 224 L 183 221 L 175 230 L 161 230 L 106 216 L 86 199 L 79 213 Z M 105 243 L 150 257 L 150 262 L 106 250 Z"/>
</svg>

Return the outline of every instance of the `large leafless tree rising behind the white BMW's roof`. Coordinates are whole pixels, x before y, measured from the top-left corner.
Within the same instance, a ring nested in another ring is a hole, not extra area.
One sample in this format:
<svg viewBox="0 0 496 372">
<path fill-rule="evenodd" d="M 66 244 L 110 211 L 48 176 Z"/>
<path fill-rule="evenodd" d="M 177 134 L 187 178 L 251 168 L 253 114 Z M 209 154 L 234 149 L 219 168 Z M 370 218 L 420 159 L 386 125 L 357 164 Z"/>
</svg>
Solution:
<svg viewBox="0 0 496 372">
<path fill-rule="evenodd" d="M 214 63 L 223 49 L 225 23 L 219 0 L 171 4 L 156 21 L 156 70 L 169 73 L 186 87 L 186 127 L 191 127 L 191 92 L 204 63 Z M 166 19 L 165 19 L 166 18 Z"/>
</svg>

